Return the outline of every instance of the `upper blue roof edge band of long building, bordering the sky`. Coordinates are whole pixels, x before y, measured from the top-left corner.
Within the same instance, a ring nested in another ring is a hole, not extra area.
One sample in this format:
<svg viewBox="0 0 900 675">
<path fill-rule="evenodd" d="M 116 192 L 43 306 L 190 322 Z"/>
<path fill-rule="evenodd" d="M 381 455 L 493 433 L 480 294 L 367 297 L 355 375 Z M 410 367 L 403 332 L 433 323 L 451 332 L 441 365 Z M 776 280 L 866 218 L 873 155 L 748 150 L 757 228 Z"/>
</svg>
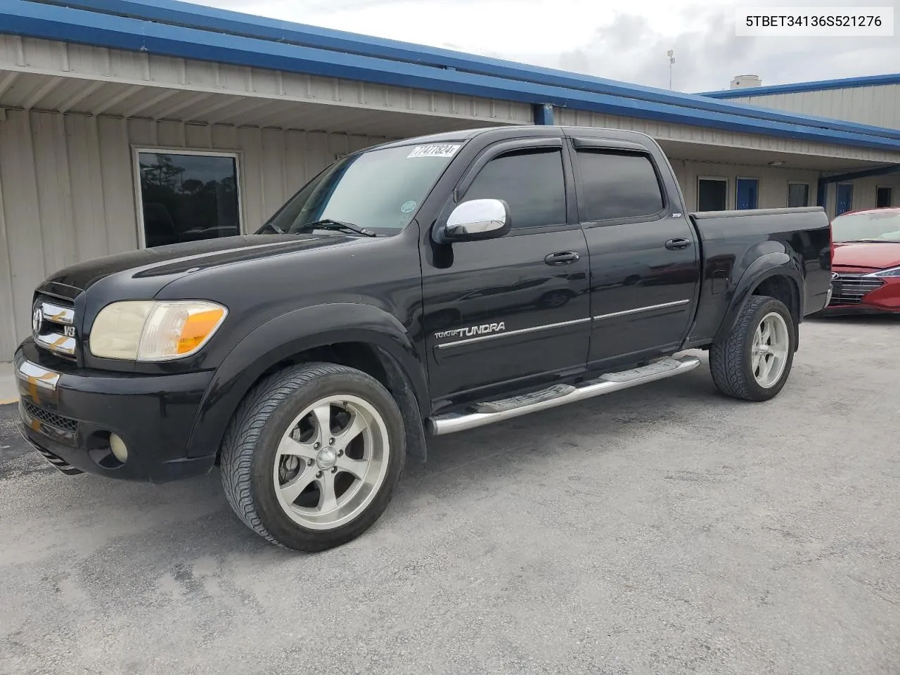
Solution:
<svg viewBox="0 0 900 675">
<path fill-rule="evenodd" d="M 464 73 L 496 76 L 518 82 L 563 87 L 595 94 L 623 96 L 638 101 L 682 106 L 692 110 L 722 112 L 760 120 L 780 121 L 787 124 L 801 124 L 823 129 L 847 131 L 849 133 L 900 139 L 900 130 L 882 129 L 857 122 L 775 111 L 744 103 L 713 101 L 710 100 L 710 97 L 704 95 L 682 94 L 671 92 L 667 89 L 632 85 L 602 77 L 575 75 L 554 68 L 527 66 L 500 58 L 486 58 L 450 49 L 437 49 L 399 40 L 384 40 L 347 31 L 333 31 L 302 23 L 266 19 L 250 14 L 206 7 L 200 4 L 180 2 L 179 0 L 35 1 L 50 5 L 80 8 L 103 14 L 147 19 L 158 23 L 203 31 L 217 31 L 232 36 L 329 49 L 360 56 L 386 58 L 392 61 L 414 63 L 439 69 L 452 68 Z M 76 31 L 73 31 L 67 39 L 77 40 Z M 543 102 L 534 101 L 531 103 Z"/>
</svg>

